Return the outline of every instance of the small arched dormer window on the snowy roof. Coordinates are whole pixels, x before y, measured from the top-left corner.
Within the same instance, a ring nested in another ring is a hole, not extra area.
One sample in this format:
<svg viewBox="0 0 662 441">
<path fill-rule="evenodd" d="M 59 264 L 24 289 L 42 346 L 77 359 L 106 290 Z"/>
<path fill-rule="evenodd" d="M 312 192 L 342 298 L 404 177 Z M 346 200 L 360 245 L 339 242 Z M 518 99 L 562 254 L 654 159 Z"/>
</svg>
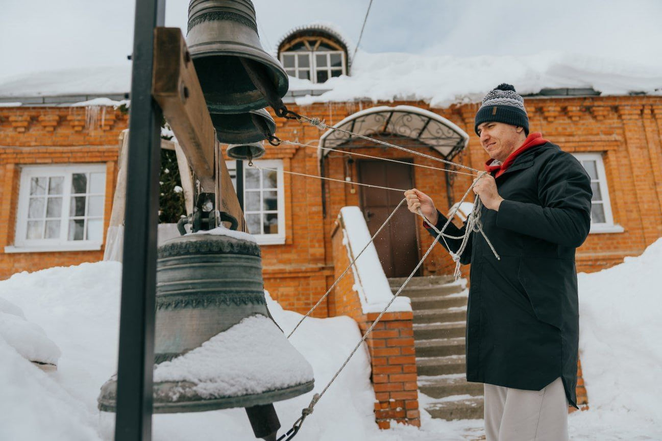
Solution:
<svg viewBox="0 0 662 441">
<path fill-rule="evenodd" d="M 344 50 L 322 38 L 307 38 L 289 46 L 281 52 L 281 63 L 288 75 L 313 83 L 324 83 L 347 72 Z"/>
</svg>

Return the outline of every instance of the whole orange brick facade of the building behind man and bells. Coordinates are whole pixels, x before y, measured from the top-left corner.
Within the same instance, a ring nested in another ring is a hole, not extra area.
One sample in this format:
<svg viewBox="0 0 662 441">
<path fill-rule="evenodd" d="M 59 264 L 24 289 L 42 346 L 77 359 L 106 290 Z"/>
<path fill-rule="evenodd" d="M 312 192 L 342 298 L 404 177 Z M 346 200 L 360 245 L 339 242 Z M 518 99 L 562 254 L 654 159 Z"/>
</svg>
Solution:
<svg viewBox="0 0 662 441">
<path fill-rule="evenodd" d="M 456 160 L 474 168 L 483 166 L 487 156 L 473 133 L 473 117 L 477 111 L 475 104 L 454 105 L 446 109 L 430 109 L 426 103 L 404 101 L 324 103 L 289 107 L 309 117 L 335 124 L 367 107 L 399 104 L 415 105 L 433 111 L 463 128 L 470 136 L 469 147 Z M 646 246 L 662 236 L 660 97 L 528 98 L 526 107 L 530 115 L 531 130 L 542 131 L 546 138 L 556 142 L 564 150 L 604 152 L 614 222 L 623 226 L 624 232 L 591 234 L 577 252 L 579 271 L 597 271 L 618 264 L 624 256 L 640 254 Z M 12 193 L 17 191 L 17 185 L 12 179 L 18 179 L 21 164 L 102 160 L 112 163 L 111 168 L 115 168 L 117 136 L 119 131 L 126 127 L 126 115 L 105 108 L 105 114 L 101 111 L 96 115 L 96 121 L 88 121 L 93 116 L 95 115 L 83 107 L 0 109 L 0 173 L 3 182 L 0 189 L 0 216 L 5 222 L 0 226 L 0 242 L 13 242 L 13 210 L 17 195 Z M 276 121 L 276 134 L 283 140 L 310 144 L 316 143 L 322 134 L 318 128 L 309 124 L 284 119 Z M 85 146 L 91 150 L 85 150 Z M 110 150 L 113 152 L 109 152 Z M 366 147 L 357 151 L 379 153 L 376 156 L 408 158 L 399 150 Z M 430 148 L 423 151 L 434 154 Z M 101 156 L 91 156 L 95 153 Z M 312 175 L 320 173 L 316 149 L 285 144 L 279 147 L 267 146 L 265 158 L 283 159 L 287 171 Z M 427 164 L 428 161 L 420 157 L 413 159 L 421 164 Z M 329 160 L 325 174 L 330 177 L 344 177 L 342 162 L 342 158 Z M 11 168 L 12 164 L 15 169 Z M 463 195 L 469 181 L 469 177 L 456 177 L 453 200 L 457 201 Z M 416 168 L 414 183 L 416 187 L 434 197 L 442 212 L 448 209 L 443 172 Z M 332 283 L 334 253 L 330 232 L 333 222 L 340 207 L 358 203 L 358 191 L 351 193 L 350 188 L 342 183 L 326 182 L 324 185 L 326 217 L 322 216 L 320 181 L 286 174 L 286 242 L 282 245 L 262 247 L 265 287 L 275 299 L 281 301 L 283 307 L 299 312 L 307 311 Z M 113 188 L 111 185 L 107 192 L 108 201 L 112 200 Z M 107 215 L 109 213 L 108 209 Z M 424 250 L 432 239 L 422 227 L 419 227 L 419 237 L 420 248 Z M 58 256 L 57 260 L 58 264 L 75 264 L 85 260 L 98 260 L 101 255 L 101 252 L 65 253 Z M 37 269 L 41 257 L 26 258 L 24 262 L 19 262 L 21 258 L 18 256 L 8 257 L 1 254 L 0 277 L 8 277 L 15 271 L 28 270 L 31 268 L 30 262 L 33 262 L 36 265 L 34 269 Z M 434 250 L 424 264 L 423 273 L 449 273 L 451 267 L 446 253 L 441 249 Z M 467 268 L 463 268 L 463 274 L 468 274 Z M 327 314 L 327 305 L 321 305 L 315 313 L 316 317 L 325 317 Z"/>
</svg>

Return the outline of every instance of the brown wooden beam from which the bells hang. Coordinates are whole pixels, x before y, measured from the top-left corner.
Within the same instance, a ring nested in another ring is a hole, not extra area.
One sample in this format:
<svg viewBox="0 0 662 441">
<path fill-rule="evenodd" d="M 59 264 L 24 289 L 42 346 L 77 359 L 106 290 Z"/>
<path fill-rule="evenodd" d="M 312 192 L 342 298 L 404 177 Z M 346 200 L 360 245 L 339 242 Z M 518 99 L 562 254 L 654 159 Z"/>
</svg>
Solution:
<svg viewBox="0 0 662 441">
<path fill-rule="evenodd" d="M 220 187 L 221 206 L 218 209 L 235 217 L 239 222 L 238 230 L 246 231 L 244 213 L 222 157 L 219 157 L 220 176 L 214 173 L 214 154 L 220 155 L 216 131 L 179 28 L 155 29 L 152 95 L 163 109 L 164 117 L 204 191 L 215 193 Z"/>
</svg>

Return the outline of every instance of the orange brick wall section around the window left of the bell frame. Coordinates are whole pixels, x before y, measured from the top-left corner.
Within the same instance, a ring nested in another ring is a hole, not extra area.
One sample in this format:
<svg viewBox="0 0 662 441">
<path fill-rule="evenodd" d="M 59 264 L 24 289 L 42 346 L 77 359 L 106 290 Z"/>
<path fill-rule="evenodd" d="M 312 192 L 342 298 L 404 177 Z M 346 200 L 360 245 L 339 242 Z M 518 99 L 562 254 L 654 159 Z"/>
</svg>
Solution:
<svg viewBox="0 0 662 441">
<path fill-rule="evenodd" d="M 117 179 L 118 135 L 127 115 L 112 107 L 0 108 L 0 279 L 19 271 L 70 266 L 103 259 L 99 251 L 5 254 L 14 244 L 21 167 L 36 164 L 105 164 L 104 231 Z M 105 237 L 105 234 L 104 234 Z"/>
</svg>

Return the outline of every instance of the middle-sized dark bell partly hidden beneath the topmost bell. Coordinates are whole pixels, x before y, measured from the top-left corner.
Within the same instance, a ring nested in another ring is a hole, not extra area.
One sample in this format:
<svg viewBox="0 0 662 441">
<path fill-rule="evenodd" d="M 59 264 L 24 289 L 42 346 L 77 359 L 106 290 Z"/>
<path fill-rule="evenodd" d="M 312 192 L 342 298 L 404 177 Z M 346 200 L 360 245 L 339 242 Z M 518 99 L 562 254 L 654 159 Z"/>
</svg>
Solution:
<svg viewBox="0 0 662 441">
<path fill-rule="evenodd" d="M 250 144 L 268 139 L 276 131 L 276 123 L 265 109 L 246 113 L 210 113 L 216 138 L 223 144 Z"/>
</svg>

